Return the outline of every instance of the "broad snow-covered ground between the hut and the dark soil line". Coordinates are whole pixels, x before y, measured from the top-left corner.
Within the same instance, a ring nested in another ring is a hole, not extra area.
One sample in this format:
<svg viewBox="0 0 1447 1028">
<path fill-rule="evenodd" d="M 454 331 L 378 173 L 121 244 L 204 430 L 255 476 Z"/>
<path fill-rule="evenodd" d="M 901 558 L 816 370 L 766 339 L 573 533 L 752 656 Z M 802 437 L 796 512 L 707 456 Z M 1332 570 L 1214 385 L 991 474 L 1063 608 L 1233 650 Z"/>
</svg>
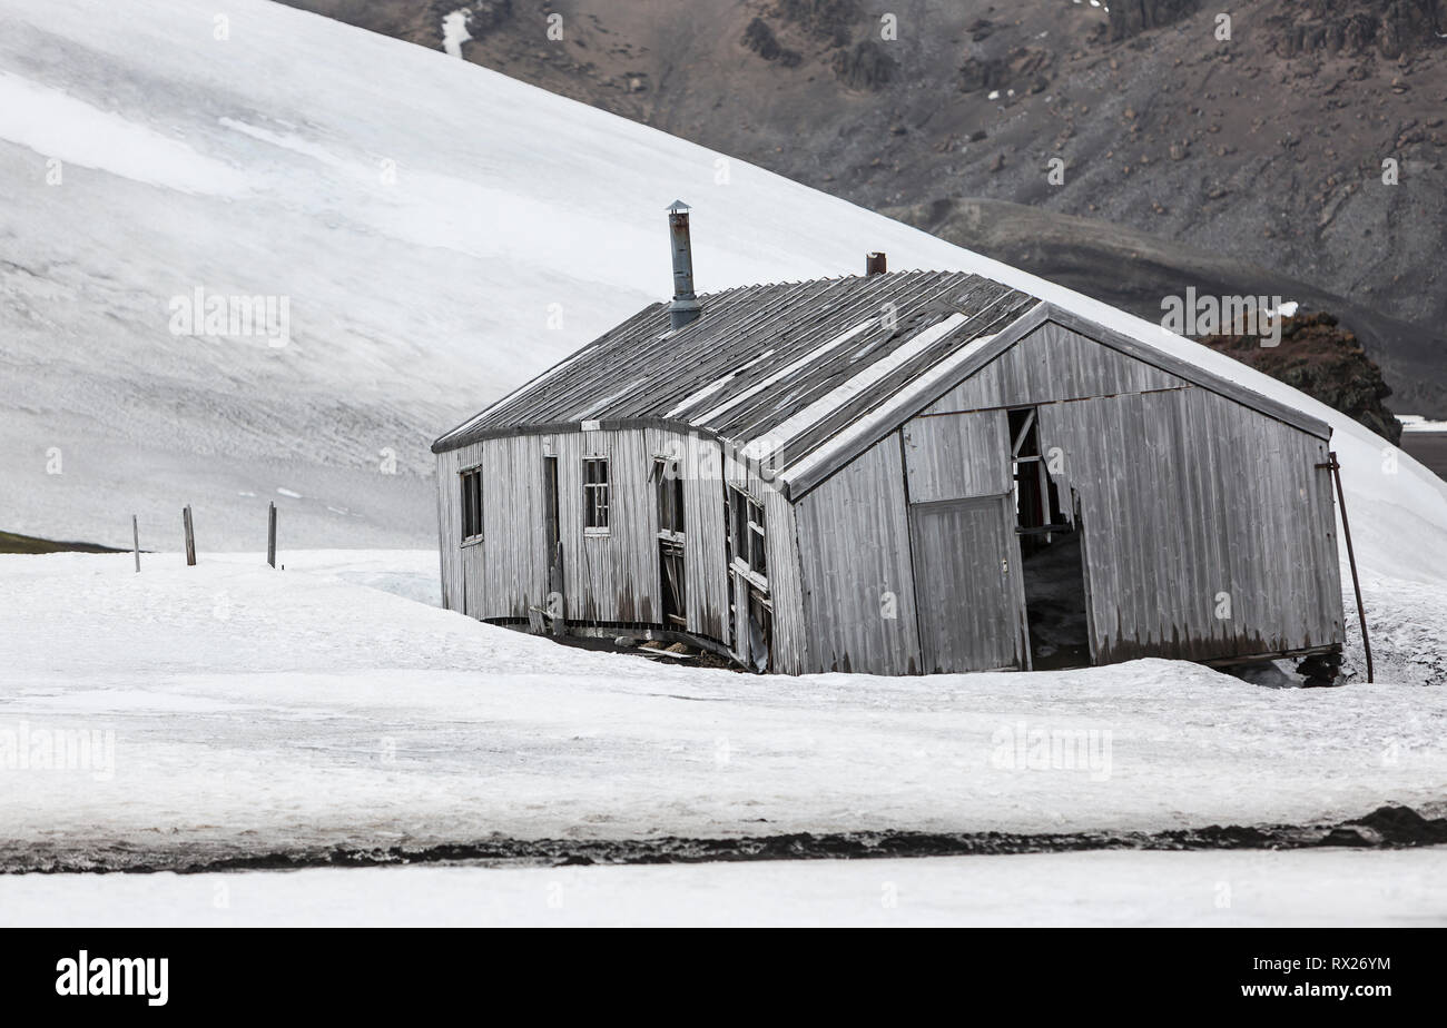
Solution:
<svg viewBox="0 0 1447 1028">
<path fill-rule="evenodd" d="M 110 766 L 0 769 L 0 849 L 1160 830 L 1447 798 L 1443 688 L 1268 688 L 1168 661 L 680 668 L 405 599 L 434 560 L 155 554 L 137 575 L 123 554 L 0 557 L 0 758 L 6 733 L 113 733 Z M 1056 759 L 1052 733 L 1078 748 Z"/>
</svg>

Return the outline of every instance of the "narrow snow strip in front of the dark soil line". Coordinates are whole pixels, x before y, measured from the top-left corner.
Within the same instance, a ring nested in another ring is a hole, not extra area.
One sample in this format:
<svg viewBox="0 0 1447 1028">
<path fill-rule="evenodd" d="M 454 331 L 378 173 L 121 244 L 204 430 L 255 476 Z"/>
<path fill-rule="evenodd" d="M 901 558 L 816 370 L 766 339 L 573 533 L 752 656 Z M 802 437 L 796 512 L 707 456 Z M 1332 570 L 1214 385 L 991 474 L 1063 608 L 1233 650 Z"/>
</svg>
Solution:
<svg viewBox="0 0 1447 1028">
<path fill-rule="evenodd" d="M 1440 850 L 0 876 L 0 925 L 1447 924 Z"/>
</svg>

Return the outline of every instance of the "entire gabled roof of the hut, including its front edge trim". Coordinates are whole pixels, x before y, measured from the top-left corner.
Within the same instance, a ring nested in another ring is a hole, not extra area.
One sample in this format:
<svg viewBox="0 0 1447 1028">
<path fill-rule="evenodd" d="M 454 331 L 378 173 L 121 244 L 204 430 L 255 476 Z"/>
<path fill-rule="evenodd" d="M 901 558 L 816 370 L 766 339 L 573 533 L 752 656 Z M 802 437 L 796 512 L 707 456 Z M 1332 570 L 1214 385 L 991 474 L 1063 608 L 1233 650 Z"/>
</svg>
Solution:
<svg viewBox="0 0 1447 1028">
<path fill-rule="evenodd" d="M 768 461 L 790 494 L 873 444 L 1004 348 L 1056 321 L 1324 438 L 1294 408 L 993 279 L 965 272 L 754 285 L 706 294 L 671 330 L 653 304 L 433 444 L 525 431 L 696 428 Z M 928 393 L 928 395 L 926 395 Z"/>
</svg>

